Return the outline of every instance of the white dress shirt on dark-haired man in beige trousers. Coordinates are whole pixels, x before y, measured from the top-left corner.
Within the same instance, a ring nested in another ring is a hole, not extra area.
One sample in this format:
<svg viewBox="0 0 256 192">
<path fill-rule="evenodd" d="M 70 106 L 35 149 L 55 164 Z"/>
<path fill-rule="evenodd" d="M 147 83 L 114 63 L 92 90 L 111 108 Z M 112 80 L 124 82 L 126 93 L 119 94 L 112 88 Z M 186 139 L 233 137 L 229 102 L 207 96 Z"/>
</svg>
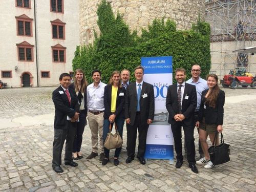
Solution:
<svg viewBox="0 0 256 192">
<path fill-rule="evenodd" d="M 101 82 L 98 87 L 95 87 L 94 84 L 89 84 L 87 87 L 87 108 L 88 110 L 98 112 L 104 111 L 104 88 L 106 84 Z"/>
</svg>

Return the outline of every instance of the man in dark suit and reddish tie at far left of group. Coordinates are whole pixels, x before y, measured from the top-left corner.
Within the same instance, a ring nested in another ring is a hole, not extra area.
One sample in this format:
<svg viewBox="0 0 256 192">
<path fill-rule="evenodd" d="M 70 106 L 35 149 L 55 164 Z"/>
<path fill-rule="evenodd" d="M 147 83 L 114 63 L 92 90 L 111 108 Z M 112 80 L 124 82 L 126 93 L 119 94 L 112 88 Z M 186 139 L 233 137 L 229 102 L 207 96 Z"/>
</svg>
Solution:
<svg viewBox="0 0 256 192">
<path fill-rule="evenodd" d="M 74 167 L 78 165 L 73 162 L 72 151 L 76 120 L 79 117 L 79 104 L 76 92 L 73 89 L 69 89 L 71 83 L 70 74 L 62 73 L 59 76 L 59 82 L 60 86 L 52 93 L 52 100 L 55 106 L 52 168 L 55 172 L 62 173 L 63 169 L 60 167 L 61 152 L 65 139 L 65 165 Z"/>
</svg>

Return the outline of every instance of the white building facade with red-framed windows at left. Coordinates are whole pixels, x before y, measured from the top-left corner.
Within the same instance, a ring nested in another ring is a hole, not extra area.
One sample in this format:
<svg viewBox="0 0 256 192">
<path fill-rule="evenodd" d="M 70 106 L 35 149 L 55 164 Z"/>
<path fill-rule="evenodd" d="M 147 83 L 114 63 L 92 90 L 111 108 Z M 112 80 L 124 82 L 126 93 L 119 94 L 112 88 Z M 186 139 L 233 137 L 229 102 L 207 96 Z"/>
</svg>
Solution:
<svg viewBox="0 0 256 192">
<path fill-rule="evenodd" d="M 8 88 L 59 84 L 79 45 L 78 0 L 2 0 L 0 80 Z"/>
</svg>

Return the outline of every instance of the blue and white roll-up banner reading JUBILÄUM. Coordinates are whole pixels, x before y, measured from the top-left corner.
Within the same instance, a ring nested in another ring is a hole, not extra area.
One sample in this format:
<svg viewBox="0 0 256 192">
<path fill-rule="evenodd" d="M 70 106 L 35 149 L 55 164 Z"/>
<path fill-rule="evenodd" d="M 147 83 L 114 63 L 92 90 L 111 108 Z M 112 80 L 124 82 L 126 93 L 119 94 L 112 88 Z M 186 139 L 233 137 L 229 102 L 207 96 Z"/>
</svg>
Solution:
<svg viewBox="0 0 256 192">
<path fill-rule="evenodd" d="M 148 127 L 145 159 L 168 159 L 174 163 L 173 133 L 165 107 L 168 86 L 173 84 L 173 57 L 142 57 L 143 81 L 153 84 L 155 94 L 154 121 Z"/>
</svg>

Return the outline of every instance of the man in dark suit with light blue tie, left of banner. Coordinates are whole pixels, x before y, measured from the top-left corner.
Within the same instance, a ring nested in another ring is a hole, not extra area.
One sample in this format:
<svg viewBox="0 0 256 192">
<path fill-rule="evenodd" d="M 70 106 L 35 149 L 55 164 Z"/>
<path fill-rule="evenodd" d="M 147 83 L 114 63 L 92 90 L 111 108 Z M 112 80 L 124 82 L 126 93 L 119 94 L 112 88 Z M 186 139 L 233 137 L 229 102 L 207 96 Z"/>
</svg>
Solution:
<svg viewBox="0 0 256 192">
<path fill-rule="evenodd" d="M 139 131 L 139 146 L 137 157 L 145 164 L 144 153 L 148 126 L 154 119 L 155 97 L 152 84 L 143 81 L 144 69 L 135 68 L 136 82 L 126 89 L 124 116 L 127 125 L 127 155 L 126 163 L 134 160 L 137 129 Z"/>
</svg>

